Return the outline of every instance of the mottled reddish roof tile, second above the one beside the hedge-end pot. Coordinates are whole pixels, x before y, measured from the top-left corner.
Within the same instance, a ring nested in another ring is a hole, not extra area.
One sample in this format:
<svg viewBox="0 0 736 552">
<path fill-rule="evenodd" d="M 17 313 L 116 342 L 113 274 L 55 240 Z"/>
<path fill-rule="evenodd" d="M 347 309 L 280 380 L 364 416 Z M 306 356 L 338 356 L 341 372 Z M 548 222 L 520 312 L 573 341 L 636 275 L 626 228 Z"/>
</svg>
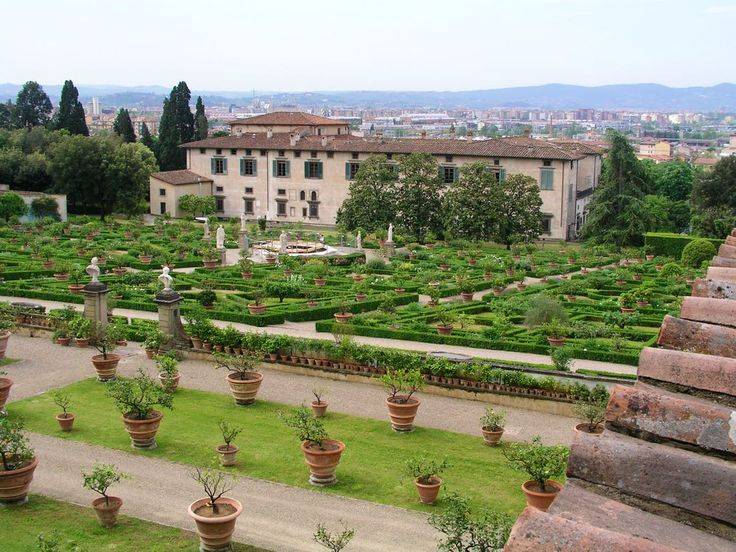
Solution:
<svg viewBox="0 0 736 552">
<path fill-rule="evenodd" d="M 666 315 L 657 344 L 670 349 L 736 358 L 736 329 Z"/>
</svg>

